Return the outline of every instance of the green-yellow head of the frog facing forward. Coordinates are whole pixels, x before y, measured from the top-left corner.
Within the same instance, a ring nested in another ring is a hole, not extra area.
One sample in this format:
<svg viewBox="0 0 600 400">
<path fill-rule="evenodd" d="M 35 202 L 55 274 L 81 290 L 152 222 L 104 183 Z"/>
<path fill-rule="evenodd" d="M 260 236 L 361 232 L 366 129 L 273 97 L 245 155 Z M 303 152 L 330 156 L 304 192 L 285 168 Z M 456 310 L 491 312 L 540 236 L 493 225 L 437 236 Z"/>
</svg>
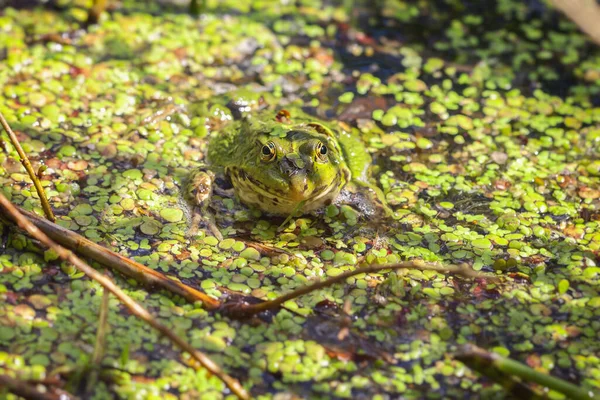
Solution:
<svg viewBox="0 0 600 400">
<path fill-rule="evenodd" d="M 315 209 L 335 198 L 349 180 L 340 146 L 325 125 L 268 121 L 252 130 L 254 143 L 238 169 L 243 174 L 238 179 L 245 181 L 238 194 L 259 208 L 285 214 L 304 202 L 305 211 Z"/>
</svg>

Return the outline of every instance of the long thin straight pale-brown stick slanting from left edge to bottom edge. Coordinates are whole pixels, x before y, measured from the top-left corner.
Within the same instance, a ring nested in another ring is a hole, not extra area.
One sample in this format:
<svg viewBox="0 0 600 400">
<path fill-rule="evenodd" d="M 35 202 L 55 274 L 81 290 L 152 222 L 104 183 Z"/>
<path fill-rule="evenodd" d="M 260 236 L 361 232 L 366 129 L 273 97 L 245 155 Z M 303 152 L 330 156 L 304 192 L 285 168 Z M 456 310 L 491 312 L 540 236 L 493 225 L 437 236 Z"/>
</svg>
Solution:
<svg viewBox="0 0 600 400">
<path fill-rule="evenodd" d="M 152 314 L 150 314 L 144 307 L 142 307 L 135 300 L 129 297 L 125 292 L 123 292 L 117 285 L 113 283 L 113 281 L 110 278 L 108 278 L 105 275 L 102 275 L 100 272 L 90 267 L 86 262 L 81 260 L 71 251 L 55 243 L 46 234 L 44 234 L 35 225 L 33 225 L 27 218 L 25 218 L 25 216 L 21 214 L 19 210 L 17 210 L 17 208 L 10 201 L 8 201 L 8 199 L 4 197 L 1 193 L 0 206 L 4 208 L 6 214 L 10 215 L 21 229 L 27 231 L 32 237 L 39 240 L 46 247 L 54 250 L 54 252 L 62 260 L 70 262 L 88 277 L 100 283 L 106 290 L 115 295 L 125 305 L 125 307 L 127 307 L 129 311 L 131 311 L 133 315 L 142 319 L 148 325 L 159 331 L 162 335 L 166 336 L 181 350 L 189 353 L 192 356 L 192 358 L 194 358 L 200 363 L 200 365 L 202 365 L 210 373 L 221 379 L 227 385 L 227 387 L 240 399 L 250 398 L 246 390 L 240 385 L 240 383 L 236 379 L 227 375 L 210 358 L 194 349 L 184 339 L 180 338 L 169 328 L 156 321 Z"/>
</svg>

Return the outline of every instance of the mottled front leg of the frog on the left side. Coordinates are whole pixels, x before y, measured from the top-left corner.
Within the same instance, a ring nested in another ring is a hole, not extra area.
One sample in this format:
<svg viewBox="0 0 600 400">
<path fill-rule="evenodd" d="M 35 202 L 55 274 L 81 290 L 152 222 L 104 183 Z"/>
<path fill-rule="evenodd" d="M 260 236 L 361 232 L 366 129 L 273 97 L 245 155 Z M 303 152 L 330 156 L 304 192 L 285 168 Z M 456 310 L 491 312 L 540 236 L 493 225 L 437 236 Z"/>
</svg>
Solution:
<svg viewBox="0 0 600 400">
<path fill-rule="evenodd" d="M 214 182 L 215 174 L 207 167 L 199 167 L 193 170 L 188 177 L 184 196 L 193 206 L 192 226 L 188 231 L 190 236 L 196 234 L 198 225 L 203 222 L 213 235 L 219 240 L 223 239 L 223 235 L 215 224 L 215 217 L 209 209 Z"/>
</svg>

